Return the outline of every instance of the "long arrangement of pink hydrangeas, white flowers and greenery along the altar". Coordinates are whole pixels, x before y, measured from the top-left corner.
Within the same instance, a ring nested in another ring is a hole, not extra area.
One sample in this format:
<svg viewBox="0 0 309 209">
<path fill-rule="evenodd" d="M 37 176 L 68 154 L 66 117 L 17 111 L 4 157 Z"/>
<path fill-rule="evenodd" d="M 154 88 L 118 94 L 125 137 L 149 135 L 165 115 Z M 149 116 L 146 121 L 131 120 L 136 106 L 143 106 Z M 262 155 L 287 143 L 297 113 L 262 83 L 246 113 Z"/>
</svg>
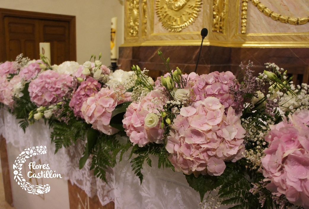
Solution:
<svg viewBox="0 0 309 209">
<path fill-rule="evenodd" d="M 19 55 L 0 65 L 0 102 L 24 131 L 44 119 L 56 152 L 87 139 L 80 168 L 91 155 L 104 181 L 129 151 L 141 183 L 157 156 L 158 168 L 184 173 L 205 208 L 309 208 L 309 86 L 274 63 L 258 77 L 250 61 L 239 78 L 183 74 L 158 54 L 168 72 L 155 82 L 139 66 L 110 72 L 101 54 L 59 66 Z"/>
</svg>

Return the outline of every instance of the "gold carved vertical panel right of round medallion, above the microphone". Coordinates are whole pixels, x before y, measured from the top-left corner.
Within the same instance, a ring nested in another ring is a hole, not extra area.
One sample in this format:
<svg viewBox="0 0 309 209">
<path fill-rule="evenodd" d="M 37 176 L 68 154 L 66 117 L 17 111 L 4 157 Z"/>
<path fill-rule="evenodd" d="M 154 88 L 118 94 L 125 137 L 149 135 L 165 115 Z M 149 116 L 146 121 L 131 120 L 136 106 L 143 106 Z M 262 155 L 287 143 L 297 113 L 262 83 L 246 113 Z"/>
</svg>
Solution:
<svg viewBox="0 0 309 209">
<path fill-rule="evenodd" d="M 214 0 L 213 5 L 213 31 L 225 34 L 227 0 Z"/>
</svg>

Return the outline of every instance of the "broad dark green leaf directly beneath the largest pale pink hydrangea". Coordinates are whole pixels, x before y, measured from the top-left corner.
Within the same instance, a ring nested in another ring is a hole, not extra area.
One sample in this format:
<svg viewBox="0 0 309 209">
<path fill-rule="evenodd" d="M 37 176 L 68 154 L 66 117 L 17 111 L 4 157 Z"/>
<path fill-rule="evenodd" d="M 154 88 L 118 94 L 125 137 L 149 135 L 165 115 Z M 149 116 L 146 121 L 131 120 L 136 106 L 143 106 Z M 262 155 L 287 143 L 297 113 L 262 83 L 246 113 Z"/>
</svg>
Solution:
<svg viewBox="0 0 309 209">
<path fill-rule="evenodd" d="M 200 193 L 201 202 L 203 201 L 206 192 L 217 188 L 217 178 L 214 176 L 199 175 L 198 177 L 195 177 L 193 173 L 185 176 L 189 186 Z"/>
</svg>

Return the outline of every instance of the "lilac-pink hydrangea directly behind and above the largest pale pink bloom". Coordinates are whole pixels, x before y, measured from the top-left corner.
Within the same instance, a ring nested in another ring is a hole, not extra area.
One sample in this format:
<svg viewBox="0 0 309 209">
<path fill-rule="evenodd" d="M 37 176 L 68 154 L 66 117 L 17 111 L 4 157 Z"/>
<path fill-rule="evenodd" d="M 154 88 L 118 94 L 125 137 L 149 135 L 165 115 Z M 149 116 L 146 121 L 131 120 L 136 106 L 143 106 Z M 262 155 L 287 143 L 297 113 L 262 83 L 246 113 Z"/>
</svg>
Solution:
<svg viewBox="0 0 309 209">
<path fill-rule="evenodd" d="M 234 83 L 235 76 L 230 71 L 219 73 L 218 71 L 210 74 L 200 75 L 192 86 L 193 96 L 191 100 L 204 100 L 206 97 L 214 96 L 224 105 L 225 110 L 232 107 L 236 115 L 240 116 L 243 110 L 243 102 L 236 102 L 234 96 L 229 93 L 229 88 L 235 86 L 237 89 L 239 83 Z"/>
</svg>

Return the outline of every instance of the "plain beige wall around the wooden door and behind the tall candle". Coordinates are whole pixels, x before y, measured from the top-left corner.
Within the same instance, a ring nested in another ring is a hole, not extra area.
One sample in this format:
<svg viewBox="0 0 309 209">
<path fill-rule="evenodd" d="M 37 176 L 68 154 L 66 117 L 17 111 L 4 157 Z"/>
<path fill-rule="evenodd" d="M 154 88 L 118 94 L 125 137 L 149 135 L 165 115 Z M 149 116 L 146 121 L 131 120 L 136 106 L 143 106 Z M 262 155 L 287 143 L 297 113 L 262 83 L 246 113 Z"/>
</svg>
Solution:
<svg viewBox="0 0 309 209">
<path fill-rule="evenodd" d="M 0 0 L 0 8 L 76 16 L 77 62 L 102 52 L 102 62 L 110 65 L 111 18 L 118 17 L 118 44 L 124 40 L 123 0 Z"/>
</svg>

